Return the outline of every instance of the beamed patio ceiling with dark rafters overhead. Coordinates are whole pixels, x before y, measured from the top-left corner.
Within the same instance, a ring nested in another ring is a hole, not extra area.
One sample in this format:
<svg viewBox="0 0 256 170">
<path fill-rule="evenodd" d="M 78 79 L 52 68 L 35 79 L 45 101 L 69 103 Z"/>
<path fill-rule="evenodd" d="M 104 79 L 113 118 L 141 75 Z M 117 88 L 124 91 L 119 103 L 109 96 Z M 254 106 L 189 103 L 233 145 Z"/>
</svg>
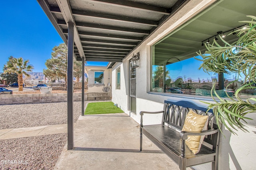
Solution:
<svg viewBox="0 0 256 170">
<path fill-rule="evenodd" d="M 73 22 L 78 61 L 122 62 L 189 0 L 38 0 L 67 44 Z M 110 64 L 111 66 L 111 64 Z"/>
</svg>

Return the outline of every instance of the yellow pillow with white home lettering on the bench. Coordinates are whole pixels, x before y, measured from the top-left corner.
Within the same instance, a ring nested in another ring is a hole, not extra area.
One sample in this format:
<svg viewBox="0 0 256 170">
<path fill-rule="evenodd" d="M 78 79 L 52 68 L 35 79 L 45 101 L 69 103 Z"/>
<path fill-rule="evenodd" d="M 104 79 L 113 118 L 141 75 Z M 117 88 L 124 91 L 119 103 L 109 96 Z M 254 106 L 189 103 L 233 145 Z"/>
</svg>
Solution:
<svg viewBox="0 0 256 170">
<path fill-rule="evenodd" d="M 208 115 L 198 115 L 194 111 L 190 110 L 186 116 L 182 131 L 200 132 L 207 130 Z M 204 136 L 188 136 L 185 143 L 188 148 L 197 154 L 204 141 Z"/>
</svg>

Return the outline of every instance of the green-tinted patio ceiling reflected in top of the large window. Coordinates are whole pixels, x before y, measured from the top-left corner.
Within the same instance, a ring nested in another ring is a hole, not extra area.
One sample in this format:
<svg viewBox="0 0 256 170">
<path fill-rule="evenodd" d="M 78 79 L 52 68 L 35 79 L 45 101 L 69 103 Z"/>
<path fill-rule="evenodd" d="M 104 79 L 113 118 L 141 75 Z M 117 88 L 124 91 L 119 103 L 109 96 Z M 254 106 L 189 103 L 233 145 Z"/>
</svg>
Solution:
<svg viewBox="0 0 256 170">
<path fill-rule="evenodd" d="M 243 25 L 239 21 L 248 21 L 248 15 L 256 16 L 255 0 L 220 0 L 204 10 L 192 20 L 188 21 L 170 35 L 166 36 L 155 45 L 154 65 L 164 65 L 169 59 L 180 61 L 196 56 L 196 52 L 206 50 L 202 41 L 217 34 L 218 31 L 228 31 Z M 242 27 L 240 27 L 242 28 Z M 228 35 L 232 31 L 225 33 Z M 222 34 L 221 34 L 222 35 Z M 222 44 L 220 38 L 218 43 Z M 214 37 L 210 38 L 210 43 Z M 229 35 L 224 38 L 232 43 L 237 39 L 236 35 Z M 206 40 L 207 41 L 207 40 Z M 204 41 L 204 43 L 206 43 Z M 168 62 L 172 62 L 172 61 Z"/>
</svg>

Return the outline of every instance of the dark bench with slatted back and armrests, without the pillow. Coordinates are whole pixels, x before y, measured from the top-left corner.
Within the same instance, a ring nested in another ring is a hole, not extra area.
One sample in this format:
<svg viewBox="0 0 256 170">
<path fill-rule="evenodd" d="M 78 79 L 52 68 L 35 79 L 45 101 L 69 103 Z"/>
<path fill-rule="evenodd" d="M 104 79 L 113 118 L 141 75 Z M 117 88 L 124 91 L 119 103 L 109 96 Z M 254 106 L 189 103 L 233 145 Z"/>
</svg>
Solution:
<svg viewBox="0 0 256 170">
<path fill-rule="evenodd" d="M 208 115 L 208 130 L 202 132 L 181 131 L 187 113 L 192 109 L 200 115 Z M 218 150 L 220 132 L 216 125 L 216 119 L 212 109 L 207 113 L 207 108 L 198 107 L 187 101 L 170 102 L 164 101 L 164 110 L 156 112 L 141 111 L 140 115 L 140 150 L 142 151 L 142 133 L 148 137 L 156 146 L 167 154 L 180 170 L 186 167 L 212 162 L 212 170 L 218 170 Z M 145 113 L 163 113 L 162 124 L 143 125 Z M 186 146 L 185 139 L 188 135 L 206 135 L 202 147 L 197 154 Z"/>
</svg>

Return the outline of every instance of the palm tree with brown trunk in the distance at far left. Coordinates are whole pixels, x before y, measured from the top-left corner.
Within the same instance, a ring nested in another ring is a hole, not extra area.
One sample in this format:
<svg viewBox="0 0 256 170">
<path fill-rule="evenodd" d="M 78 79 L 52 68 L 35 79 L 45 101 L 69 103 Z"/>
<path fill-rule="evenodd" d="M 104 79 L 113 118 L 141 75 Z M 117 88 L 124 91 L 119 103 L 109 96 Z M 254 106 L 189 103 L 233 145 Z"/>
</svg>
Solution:
<svg viewBox="0 0 256 170">
<path fill-rule="evenodd" d="M 28 60 L 23 60 L 20 58 L 10 58 L 6 64 L 7 69 L 4 70 L 4 73 L 16 73 L 18 74 L 18 84 L 19 91 L 23 91 L 23 74 L 25 76 L 30 76 L 27 72 L 31 72 L 34 67 L 29 64 Z"/>
</svg>

